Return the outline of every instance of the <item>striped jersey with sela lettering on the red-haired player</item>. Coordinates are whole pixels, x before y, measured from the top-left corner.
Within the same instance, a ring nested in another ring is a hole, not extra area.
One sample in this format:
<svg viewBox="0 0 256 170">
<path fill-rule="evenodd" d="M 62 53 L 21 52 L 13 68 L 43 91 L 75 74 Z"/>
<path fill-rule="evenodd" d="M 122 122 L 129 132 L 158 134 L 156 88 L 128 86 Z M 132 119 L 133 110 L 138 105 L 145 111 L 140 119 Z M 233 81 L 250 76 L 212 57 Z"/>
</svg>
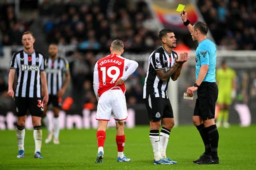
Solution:
<svg viewBox="0 0 256 170">
<path fill-rule="evenodd" d="M 45 69 L 44 56 L 41 53 L 18 51 L 12 56 L 10 68 L 17 70 L 16 97 L 41 97 L 40 71 Z"/>
</svg>

